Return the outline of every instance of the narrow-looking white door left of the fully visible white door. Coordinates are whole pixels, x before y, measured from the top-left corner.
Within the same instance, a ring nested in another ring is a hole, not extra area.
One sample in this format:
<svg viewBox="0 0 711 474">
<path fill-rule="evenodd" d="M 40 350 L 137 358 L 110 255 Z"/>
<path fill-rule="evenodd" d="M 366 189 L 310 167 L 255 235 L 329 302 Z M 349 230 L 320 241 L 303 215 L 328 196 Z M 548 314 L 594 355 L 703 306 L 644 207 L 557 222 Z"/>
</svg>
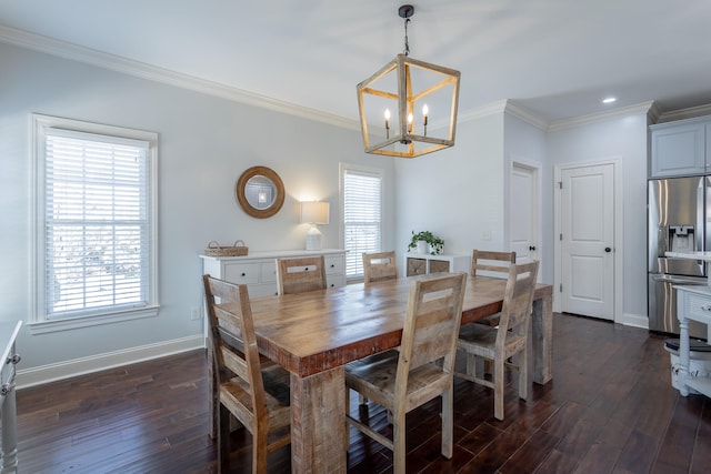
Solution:
<svg viewBox="0 0 711 474">
<path fill-rule="evenodd" d="M 513 163 L 509 194 L 511 251 L 515 252 L 518 263 L 538 260 L 538 169 Z"/>
</svg>

